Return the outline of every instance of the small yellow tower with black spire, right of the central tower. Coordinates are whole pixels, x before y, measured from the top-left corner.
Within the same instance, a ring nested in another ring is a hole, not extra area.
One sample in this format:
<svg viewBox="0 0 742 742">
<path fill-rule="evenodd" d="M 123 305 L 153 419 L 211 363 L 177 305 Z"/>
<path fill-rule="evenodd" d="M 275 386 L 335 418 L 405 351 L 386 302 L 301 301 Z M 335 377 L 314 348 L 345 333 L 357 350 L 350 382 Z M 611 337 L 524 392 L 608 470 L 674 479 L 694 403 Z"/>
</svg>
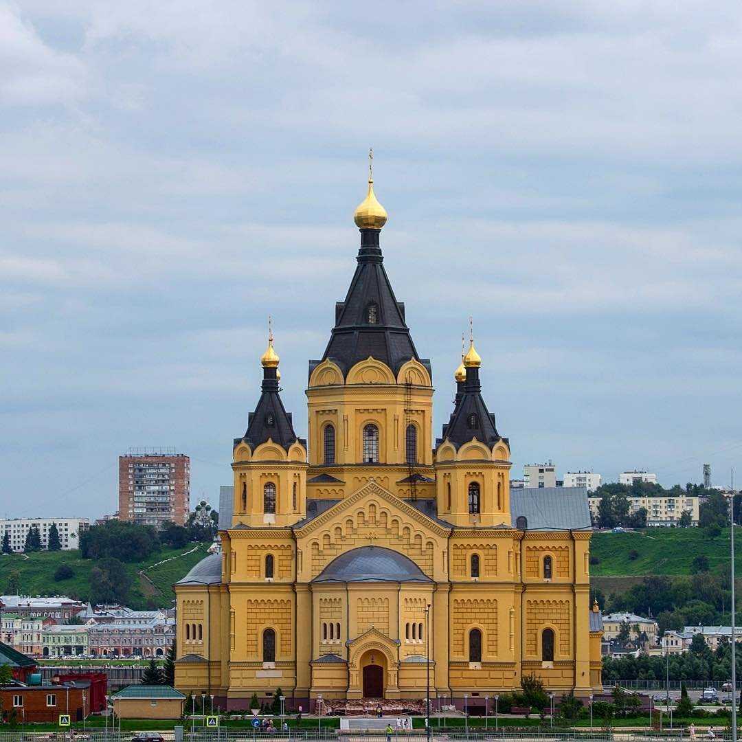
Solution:
<svg viewBox="0 0 742 742">
<path fill-rule="evenodd" d="M 474 347 L 456 369 L 456 401 L 436 445 L 438 515 L 456 526 L 510 526 L 510 444 L 482 398 Z"/>
</svg>

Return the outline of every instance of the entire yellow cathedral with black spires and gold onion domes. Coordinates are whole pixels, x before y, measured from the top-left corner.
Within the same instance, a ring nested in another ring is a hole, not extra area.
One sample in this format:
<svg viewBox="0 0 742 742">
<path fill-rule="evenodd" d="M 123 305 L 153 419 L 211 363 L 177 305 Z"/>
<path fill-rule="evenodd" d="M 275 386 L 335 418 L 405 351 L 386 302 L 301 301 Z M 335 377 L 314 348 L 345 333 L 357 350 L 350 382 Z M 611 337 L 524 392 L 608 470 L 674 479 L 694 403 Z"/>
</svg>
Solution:
<svg viewBox="0 0 742 742">
<path fill-rule="evenodd" d="M 433 439 L 433 374 L 384 269 L 387 212 L 369 177 L 358 264 L 320 360 L 309 441 L 263 383 L 234 440 L 221 551 L 174 586 L 176 686 L 245 709 L 359 699 L 470 706 L 534 674 L 557 695 L 602 689 L 584 489 L 510 490 L 510 442 L 482 397 L 473 339 Z"/>
</svg>

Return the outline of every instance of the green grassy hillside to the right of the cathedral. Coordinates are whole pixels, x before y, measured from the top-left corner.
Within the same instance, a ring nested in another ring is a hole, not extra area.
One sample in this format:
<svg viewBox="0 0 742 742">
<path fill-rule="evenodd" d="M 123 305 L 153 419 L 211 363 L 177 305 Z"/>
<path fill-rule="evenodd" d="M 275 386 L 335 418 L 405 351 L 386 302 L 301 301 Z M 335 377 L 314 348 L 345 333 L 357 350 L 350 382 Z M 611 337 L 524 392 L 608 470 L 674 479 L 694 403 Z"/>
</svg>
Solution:
<svg viewBox="0 0 742 742">
<path fill-rule="evenodd" d="M 595 557 L 599 560 L 591 565 L 593 577 L 689 575 L 693 559 L 700 555 L 709 559 L 709 571 L 718 574 L 729 565 L 729 528 L 715 538 L 710 538 L 705 528 L 594 533 L 590 554 L 593 562 Z M 737 574 L 742 574 L 742 543 L 735 562 Z"/>
</svg>

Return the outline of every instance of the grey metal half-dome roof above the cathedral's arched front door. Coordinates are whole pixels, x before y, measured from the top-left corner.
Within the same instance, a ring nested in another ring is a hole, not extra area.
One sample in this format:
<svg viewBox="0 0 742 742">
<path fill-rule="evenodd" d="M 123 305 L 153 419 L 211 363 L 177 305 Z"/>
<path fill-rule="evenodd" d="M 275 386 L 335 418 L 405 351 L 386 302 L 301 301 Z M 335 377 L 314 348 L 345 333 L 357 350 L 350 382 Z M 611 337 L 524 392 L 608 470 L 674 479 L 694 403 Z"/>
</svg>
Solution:
<svg viewBox="0 0 742 742">
<path fill-rule="evenodd" d="M 332 559 L 312 582 L 431 582 L 412 559 L 382 546 L 361 546 Z"/>
</svg>

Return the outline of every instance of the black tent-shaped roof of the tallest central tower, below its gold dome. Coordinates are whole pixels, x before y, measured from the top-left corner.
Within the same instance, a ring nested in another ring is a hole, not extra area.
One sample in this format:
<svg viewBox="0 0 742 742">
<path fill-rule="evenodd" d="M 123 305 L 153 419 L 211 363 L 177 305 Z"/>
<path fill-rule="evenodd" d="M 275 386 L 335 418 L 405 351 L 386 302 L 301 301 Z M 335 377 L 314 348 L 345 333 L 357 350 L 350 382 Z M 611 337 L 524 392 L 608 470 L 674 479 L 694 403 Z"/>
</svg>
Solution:
<svg viewBox="0 0 742 742">
<path fill-rule="evenodd" d="M 372 355 L 395 374 L 415 358 L 429 373 L 430 361 L 418 356 L 404 321 L 404 303 L 397 301 L 384 270 L 378 229 L 361 229 L 358 266 L 345 301 L 335 304 L 335 326 L 322 361 L 329 358 L 344 374 Z M 321 361 L 309 361 L 309 374 Z M 432 373 L 431 373 L 432 376 Z"/>
</svg>

